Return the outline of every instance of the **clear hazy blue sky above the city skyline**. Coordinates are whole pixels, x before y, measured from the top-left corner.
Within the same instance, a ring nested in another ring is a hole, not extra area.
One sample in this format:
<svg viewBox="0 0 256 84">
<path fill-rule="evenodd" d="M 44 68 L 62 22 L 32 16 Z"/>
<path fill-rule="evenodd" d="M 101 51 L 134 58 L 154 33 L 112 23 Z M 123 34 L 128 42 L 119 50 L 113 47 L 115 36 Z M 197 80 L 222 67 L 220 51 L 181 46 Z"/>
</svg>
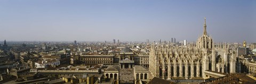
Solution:
<svg viewBox="0 0 256 84">
<path fill-rule="evenodd" d="M 1 0 L 0 40 L 256 43 L 256 1 Z"/>
</svg>

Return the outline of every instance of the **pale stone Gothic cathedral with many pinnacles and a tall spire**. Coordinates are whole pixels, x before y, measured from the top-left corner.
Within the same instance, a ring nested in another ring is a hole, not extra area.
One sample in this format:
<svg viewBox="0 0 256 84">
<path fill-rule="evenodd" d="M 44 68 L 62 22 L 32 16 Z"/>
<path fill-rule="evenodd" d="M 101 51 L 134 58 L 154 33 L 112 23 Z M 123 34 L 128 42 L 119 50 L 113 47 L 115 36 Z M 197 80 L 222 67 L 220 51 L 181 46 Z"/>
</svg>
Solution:
<svg viewBox="0 0 256 84">
<path fill-rule="evenodd" d="M 204 32 L 196 46 L 173 46 L 152 44 L 149 56 L 149 72 L 153 77 L 170 80 L 172 77 L 185 79 L 207 78 L 206 72 L 241 72 L 237 52 L 229 52 L 229 45 L 214 45 L 212 37 Z"/>
</svg>

